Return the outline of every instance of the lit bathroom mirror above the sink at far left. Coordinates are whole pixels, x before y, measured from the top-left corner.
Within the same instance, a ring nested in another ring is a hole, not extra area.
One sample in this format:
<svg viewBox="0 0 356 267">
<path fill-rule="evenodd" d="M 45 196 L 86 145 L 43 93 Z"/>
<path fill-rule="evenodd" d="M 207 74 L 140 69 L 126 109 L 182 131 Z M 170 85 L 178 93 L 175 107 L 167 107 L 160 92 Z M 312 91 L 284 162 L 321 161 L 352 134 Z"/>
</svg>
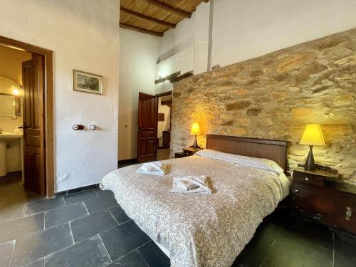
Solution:
<svg viewBox="0 0 356 267">
<path fill-rule="evenodd" d="M 0 76 L 0 116 L 22 116 L 21 86 Z"/>
</svg>

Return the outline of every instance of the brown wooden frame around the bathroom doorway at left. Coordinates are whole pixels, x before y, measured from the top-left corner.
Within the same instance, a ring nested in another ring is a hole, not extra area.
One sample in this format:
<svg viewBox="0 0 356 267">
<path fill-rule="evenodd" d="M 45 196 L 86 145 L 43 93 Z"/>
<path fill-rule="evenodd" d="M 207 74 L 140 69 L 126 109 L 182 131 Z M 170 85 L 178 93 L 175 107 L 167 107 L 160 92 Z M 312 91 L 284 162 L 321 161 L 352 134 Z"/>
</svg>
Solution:
<svg viewBox="0 0 356 267">
<path fill-rule="evenodd" d="M 53 159 L 53 51 L 29 43 L 23 43 L 11 38 L 0 36 L 0 43 L 14 48 L 21 48 L 30 53 L 37 53 L 44 58 L 44 132 L 45 132 L 45 167 L 46 167 L 46 195 L 54 196 L 54 159 Z M 23 159 L 22 159 L 23 160 Z"/>
</svg>

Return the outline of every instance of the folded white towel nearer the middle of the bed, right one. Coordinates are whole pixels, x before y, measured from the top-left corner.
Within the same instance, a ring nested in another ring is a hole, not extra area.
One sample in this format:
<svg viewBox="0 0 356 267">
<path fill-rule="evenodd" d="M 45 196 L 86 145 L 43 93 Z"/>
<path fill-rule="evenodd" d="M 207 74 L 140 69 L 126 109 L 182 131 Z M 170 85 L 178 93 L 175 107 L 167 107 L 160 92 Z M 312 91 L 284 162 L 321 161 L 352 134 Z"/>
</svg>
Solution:
<svg viewBox="0 0 356 267">
<path fill-rule="evenodd" d="M 188 176 L 188 177 L 174 177 L 172 193 L 202 193 L 211 194 L 212 190 L 206 182 L 206 177 Z"/>
</svg>

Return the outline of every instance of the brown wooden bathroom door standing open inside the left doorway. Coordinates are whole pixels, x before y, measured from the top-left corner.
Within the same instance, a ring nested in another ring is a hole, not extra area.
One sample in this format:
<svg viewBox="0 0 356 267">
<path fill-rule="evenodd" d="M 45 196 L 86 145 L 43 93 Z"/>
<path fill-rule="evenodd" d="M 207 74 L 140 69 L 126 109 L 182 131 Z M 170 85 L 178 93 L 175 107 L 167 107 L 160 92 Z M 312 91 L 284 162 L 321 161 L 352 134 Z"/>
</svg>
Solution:
<svg viewBox="0 0 356 267">
<path fill-rule="evenodd" d="M 25 187 L 46 195 L 43 98 L 43 57 L 33 54 L 22 63 L 23 163 Z"/>
</svg>

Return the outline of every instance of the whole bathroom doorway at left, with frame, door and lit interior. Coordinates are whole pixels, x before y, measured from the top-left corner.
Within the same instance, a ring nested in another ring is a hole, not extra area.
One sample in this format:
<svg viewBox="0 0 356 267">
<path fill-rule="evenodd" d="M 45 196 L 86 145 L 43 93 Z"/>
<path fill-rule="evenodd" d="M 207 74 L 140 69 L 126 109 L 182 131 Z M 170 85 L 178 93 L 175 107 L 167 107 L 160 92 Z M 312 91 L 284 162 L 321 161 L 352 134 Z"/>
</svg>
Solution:
<svg viewBox="0 0 356 267">
<path fill-rule="evenodd" d="M 1 219 L 53 194 L 52 51 L 0 36 Z"/>
</svg>

